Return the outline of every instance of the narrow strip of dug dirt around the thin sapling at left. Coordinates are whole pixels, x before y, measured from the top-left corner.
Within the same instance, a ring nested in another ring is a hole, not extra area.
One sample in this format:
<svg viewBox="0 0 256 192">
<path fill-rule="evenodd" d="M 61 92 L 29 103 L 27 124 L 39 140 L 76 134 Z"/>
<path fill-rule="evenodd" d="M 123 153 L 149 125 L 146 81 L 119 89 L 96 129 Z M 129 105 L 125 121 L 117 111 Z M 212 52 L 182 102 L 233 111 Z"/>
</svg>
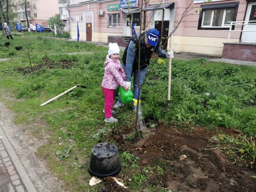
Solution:
<svg viewBox="0 0 256 192">
<path fill-rule="evenodd" d="M 15 68 L 14 70 L 18 73 L 23 73 L 23 74 L 30 74 L 35 71 L 38 71 L 44 67 L 54 69 L 54 68 L 71 68 L 74 65 L 72 61 L 68 61 L 66 59 L 60 60 L 58 62 L 53 62 L 48 59 L 42 58 L 42 63 L 38 65 L 33 65 L 31 67 L 20 67 L 20 68 Z"/>
</svg>

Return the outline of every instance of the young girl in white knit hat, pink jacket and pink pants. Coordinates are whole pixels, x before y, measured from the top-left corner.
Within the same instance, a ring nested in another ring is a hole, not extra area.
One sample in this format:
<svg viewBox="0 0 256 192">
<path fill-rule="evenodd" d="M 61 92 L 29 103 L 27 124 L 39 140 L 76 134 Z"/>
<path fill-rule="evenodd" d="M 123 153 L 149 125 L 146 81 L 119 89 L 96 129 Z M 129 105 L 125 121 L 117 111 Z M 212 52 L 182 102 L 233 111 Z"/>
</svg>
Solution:
<svg viewBox="0 0 256 192">
<path fill-rule="evenodd" d="M 125 73 L 124 69 L 121 66 L 119 59 L 120 49 L 117 43 L 108 44 L 108 55 L 105 61 L 105 73 L 101 83 L 102 91 L 104 94 L 104 110 L 105 113 L 105 122 L 114 123 L 118 119 L 114 118 L 112 114 L 115 111 L 112 110 L 114 99 L 115 99 L 115 89 L 118 85 L 124 87 L 124 90 L 127 91 L 125 86 Z"/>
</svg>

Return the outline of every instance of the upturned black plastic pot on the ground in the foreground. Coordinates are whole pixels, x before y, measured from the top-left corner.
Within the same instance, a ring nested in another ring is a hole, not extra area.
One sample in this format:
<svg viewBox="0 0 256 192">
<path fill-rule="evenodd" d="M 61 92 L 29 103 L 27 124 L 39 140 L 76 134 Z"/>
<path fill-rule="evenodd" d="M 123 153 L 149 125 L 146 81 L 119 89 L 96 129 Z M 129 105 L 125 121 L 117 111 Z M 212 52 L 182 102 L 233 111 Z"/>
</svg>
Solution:
<svg viewBox="0 0 256 192">
<path fill-rule="evenodd" d="M 116 145 L 103 142 L 92 148 L 88 172 L 90 175 L 105 178 L 113 177 L 121 171 L 118 150 Z"/>
</svg>

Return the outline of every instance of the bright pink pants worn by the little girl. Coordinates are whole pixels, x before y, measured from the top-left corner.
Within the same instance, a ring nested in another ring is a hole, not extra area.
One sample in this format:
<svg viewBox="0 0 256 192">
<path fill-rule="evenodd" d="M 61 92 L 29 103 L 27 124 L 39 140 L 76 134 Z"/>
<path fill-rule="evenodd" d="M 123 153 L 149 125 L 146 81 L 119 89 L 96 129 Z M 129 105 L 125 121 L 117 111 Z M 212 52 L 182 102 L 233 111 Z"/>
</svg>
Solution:
<svg viewBox="0 0 256 192">
<path fill-rule="evenodd" d="M 112 107 L 114 105 L 115 99 L 115 89 L 106 89 L 102 87 L 102 91 L 104 94 L 104 109 L 105 109 L 105 117 L 109 118 L 112 116 Z"/>
</svg>

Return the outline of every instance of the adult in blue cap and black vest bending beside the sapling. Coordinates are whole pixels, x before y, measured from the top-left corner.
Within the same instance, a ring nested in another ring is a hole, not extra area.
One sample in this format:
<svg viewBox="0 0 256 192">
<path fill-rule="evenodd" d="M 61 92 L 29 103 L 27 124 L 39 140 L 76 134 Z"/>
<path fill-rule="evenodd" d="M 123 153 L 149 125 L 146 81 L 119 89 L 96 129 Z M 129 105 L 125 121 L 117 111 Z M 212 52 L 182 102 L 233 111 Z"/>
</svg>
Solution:
<svg viewBox="0 0 256 192">
<path fill-rule="evenodd" d="M 124 50 L 124 55 L 122 58 L 123 64 L 122 68 L 125 71 L 125 85 L 131 89 L 131 77 L 133 74 L 133 98 L 139 100 L 139 84 L 138 84 L 138 59 L 139 59 L 139 36 L 133 36 L 129 44 Z M 135 44 L 135 45 L 134 45 Z M 140 87 L 144 81 L 146 72 L 148 70 L 149 60 L 158 54 L 161 58 L 173 58 L 173 52 L 164 52 L 161 49 L 159 32 L 155 28 L 148 29 L 147 31 L 142 31 L 140 37 Z M 141 94 L 140 88 L 140 94 Z M 124 106 L 120 98 L 118 98 L 117 103 L 114 105 L 115 109 Z M 133 110 L 135 107 L 133 106 Z"/>
</svg>

